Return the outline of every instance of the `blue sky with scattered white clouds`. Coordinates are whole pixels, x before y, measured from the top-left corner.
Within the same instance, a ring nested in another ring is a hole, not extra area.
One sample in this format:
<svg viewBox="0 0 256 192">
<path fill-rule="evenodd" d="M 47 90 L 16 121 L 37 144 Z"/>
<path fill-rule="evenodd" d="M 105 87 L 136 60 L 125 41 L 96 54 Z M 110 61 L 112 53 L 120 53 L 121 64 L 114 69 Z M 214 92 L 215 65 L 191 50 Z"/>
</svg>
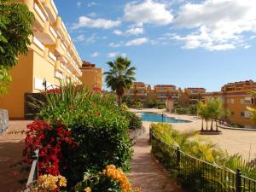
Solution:
<svg viewBox="0 0 256 192">
<path fill-rule="evenodd" d="M 128 56 L 137 81 L 220 90 L 256 80 L 255 0 L 55 0 L 84 61 Z"/>
</svg>

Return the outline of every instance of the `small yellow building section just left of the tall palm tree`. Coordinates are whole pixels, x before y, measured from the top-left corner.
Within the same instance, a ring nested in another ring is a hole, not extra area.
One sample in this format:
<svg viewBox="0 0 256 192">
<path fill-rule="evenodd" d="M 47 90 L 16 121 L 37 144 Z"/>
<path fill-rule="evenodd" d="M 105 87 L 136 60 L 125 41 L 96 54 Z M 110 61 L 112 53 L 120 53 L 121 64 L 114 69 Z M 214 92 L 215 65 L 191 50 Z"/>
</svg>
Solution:
<svg viewBox="0 0 256 192">
<path fill-rule="evenodd" d="M 91 64 L 90 62 L 83 61 L 82 67 L 80 67 L 82 71 L 82 76 L 79 78 L 84 84 L 84 86 L 89 87 L 91 89 L 98 88 L 103 90 L 103 69 L 96 68 L 95 64 Z"/>
</svg>

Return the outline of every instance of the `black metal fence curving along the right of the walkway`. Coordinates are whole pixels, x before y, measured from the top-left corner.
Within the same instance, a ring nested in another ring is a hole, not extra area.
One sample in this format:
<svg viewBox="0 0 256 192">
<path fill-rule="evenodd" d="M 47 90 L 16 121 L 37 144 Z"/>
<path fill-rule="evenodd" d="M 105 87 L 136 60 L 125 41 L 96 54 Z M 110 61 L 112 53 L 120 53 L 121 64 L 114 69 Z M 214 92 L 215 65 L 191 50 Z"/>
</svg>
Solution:
<svg viewBox="0 0 256 192">
<path fill-rule="evenodd" d="M 169 171 L 177 175 L 177 182 L 193 192 L 256 192 L 256 180 L 242 175 L 237 169 L 213 165 L 184 153 L 150 131 L 152 152 Z"/>
</svg>

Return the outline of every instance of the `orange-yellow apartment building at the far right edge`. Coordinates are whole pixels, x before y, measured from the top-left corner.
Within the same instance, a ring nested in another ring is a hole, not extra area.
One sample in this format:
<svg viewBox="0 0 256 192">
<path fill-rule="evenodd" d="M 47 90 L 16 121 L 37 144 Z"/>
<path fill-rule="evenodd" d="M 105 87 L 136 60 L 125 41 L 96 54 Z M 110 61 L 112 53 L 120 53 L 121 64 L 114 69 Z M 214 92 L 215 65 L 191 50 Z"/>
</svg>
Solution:
<svg viewBox="0 0 256 192">
<path fill-rule="evenodd" d="M 206 93 L 206 102 L 210 98 L 219 98 L 225 109 L 230 111 L 229 121 L 245 127 L 252 127 L 247 106 L 255 108 L 255 98 L 251 91 L 256 90 L 256 82 L 252 80 L 224 84 L 219 92 Z"/>
</svg>

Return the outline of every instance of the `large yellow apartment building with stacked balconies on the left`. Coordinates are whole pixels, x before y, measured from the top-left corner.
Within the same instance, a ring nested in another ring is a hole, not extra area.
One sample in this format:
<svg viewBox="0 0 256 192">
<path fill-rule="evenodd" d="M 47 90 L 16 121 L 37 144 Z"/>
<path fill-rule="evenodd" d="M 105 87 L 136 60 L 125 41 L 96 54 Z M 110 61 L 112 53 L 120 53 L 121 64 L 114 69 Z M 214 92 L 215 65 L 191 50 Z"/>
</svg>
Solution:
<svg viewBox="0 0 256 192">
<path fill-rule="evenodd" d="M 0 108 L 9 110 L 9 117 L 24 118 L 24 94 L 59 85 L 60 80 L 81 84 L 79 67 L 82 61 L 66 26 L 52 0 L 20 0 L 35 15 L 32 44 L 27 55 L 20 55 L 10 72 L 9 93 L 0 97 Z"/>
</svg>

